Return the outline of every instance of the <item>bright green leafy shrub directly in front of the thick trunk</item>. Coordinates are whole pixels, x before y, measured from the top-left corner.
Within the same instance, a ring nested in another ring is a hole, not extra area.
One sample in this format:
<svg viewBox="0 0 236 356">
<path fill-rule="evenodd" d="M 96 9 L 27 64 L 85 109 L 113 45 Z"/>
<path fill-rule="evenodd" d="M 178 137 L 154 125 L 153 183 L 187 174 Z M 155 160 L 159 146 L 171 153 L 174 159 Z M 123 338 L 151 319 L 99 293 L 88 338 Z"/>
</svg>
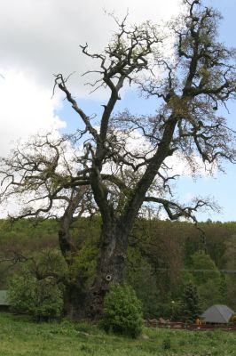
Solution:
<svg viewBox="0 0 236 356">
<path fill-rule="evenodd" d="M 106 332 L 138 337 L 142 332 L 142 307 L 135 291 L 128 285 L 113 285 L 104 301 Z"/>
</svg>

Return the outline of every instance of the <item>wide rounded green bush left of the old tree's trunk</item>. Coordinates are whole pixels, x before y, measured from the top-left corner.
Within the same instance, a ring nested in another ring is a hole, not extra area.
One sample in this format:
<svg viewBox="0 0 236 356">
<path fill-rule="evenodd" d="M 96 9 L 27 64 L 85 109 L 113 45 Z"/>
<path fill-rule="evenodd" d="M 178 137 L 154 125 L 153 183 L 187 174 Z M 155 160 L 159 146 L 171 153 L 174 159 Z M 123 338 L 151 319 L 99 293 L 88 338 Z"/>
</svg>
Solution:
<svg viewBox="0 0 236 356">
<path fill-rule="evenodd" d="M 57 250 L 35 255 L 22 268 L 21 274 L 9 281 L 9 301 L 15 312 L 32 315 L 35 320 L 59 318 L 63 308 L 67 266 Z"/>
</svg>

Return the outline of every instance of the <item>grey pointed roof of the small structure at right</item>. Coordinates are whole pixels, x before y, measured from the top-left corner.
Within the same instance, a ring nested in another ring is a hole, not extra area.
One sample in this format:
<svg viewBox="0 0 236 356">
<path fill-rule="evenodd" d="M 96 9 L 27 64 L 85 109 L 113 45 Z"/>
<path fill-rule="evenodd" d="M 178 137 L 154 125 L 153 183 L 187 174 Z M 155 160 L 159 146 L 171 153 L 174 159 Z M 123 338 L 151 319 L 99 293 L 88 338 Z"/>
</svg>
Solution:
<svg viewBox="0 0 236 356">
<path fill-rule="evenodd" d="M 234 312 L 227 305 L 215 304 L 201 314 L 201 318 L 206 323 L 227 324 Z"/>
</svg>

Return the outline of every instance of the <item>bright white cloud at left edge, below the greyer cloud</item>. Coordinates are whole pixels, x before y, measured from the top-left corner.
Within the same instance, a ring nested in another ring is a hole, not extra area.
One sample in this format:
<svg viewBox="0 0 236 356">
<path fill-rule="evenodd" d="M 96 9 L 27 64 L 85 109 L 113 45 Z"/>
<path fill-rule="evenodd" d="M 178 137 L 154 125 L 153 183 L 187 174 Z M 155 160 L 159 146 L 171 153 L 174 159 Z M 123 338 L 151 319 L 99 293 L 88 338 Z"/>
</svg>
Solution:
<svg viewBox="0 0 236 356">
<path fill-rule="evenodd" d="M 15 70 L 0 73 L 0 155 L 4 156 L 9 145 L 27 139 L 38 131 L 49 132 L 66 125 L 55 115 L 59 96 L 51 99 L 51 91 L 38 85 L 32 77 Z"/>
</svg>

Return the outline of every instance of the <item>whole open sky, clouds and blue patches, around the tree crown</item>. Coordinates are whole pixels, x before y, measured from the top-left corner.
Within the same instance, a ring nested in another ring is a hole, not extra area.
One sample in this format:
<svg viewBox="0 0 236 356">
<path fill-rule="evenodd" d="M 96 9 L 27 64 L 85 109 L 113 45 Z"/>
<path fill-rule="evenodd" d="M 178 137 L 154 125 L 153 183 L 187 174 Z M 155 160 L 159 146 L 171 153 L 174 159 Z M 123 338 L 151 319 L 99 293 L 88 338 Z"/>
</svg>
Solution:
<svg viewBox="0 0 236 356">
<path fill-rule="evenodd" d="M 51 99 L 53 74 L 74 72 L 71 88 L 88 115 L 99 113 L 102 94 L 88 96 L 81 77 L 90 61 L 81 55 L 80 44 L 88 42 L 93 51 L 101 50 L 114 33 L 114 21 L 104 14 L 114 12 L 122 18 L 129 11 L 130 22 L 169 20 L 179 10 L 179 0 L 7 0 L 0 1 L 0 156 L 13 142 L 29 134 L 52 128 L 70 132 L 78 118 L 59 93 Z M 235 45 L 235 0 L 207 0 L 224 15 L 221 40 Z M 134 113 L 150 113 L 152 105 L 140 102 L 132 92 L 123 93 L 120 107 Z M 229 120 L 236 128 L 236 106 L 231 105 Z M 236 167 L 225 166 L 225 174 L 204 176 L 193 182 L 184 176 L 177 194 L 188 199 L 194 195 L 214 196 L 222 214 L 200 214 L 200 219 L 236 221 L 234 184 Z"/>
</svg>

